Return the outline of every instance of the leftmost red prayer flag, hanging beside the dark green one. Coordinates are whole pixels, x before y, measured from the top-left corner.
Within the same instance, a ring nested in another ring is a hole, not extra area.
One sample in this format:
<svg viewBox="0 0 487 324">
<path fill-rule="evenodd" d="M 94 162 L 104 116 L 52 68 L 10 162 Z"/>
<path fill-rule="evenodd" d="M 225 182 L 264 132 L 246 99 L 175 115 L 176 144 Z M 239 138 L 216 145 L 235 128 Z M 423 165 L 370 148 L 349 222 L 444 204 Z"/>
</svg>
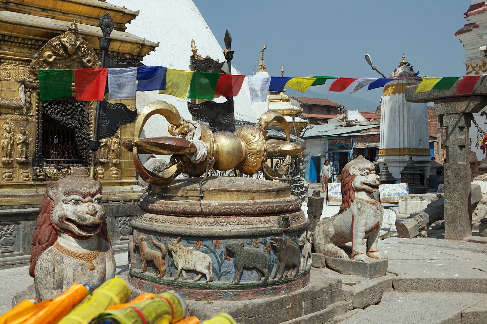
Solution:
<svg viewBox="0 0 487 324">
<path fill-rule="evenodd" d="M 76 100 L 103 100 L 107 85 L 107 68 L 75 69 L 75 85 Z"/>
</svg>

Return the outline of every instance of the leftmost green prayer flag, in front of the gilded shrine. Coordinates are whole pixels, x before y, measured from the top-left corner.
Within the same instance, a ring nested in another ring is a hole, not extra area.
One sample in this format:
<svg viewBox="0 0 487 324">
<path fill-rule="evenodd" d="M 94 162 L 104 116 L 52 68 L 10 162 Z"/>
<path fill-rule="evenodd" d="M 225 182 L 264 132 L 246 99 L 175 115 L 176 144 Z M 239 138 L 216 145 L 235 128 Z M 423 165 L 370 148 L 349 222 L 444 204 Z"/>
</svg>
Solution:
<svg viewBox="0 0 487 324">
<path fill-rule="evenodd" d="M 40 101 L 71 97 L 73 70 L 39 69 Z"/>
</svg>

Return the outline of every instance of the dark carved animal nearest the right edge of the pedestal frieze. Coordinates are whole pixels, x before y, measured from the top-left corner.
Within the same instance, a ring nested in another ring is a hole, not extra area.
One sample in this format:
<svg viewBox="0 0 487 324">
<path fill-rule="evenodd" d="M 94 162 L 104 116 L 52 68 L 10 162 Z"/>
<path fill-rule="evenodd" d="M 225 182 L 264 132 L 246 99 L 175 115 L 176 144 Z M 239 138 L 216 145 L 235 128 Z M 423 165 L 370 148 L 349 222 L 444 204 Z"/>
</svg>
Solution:
<svg viewBox="0 0 487 324">
<path fill-rule="evenodd" d="M 271 236 L 271 247 L 276 256 L 276 265 L 272 270 L 271 279 L 281 280 L 285 269 L 288 278 L 294 278 L 300 268 L 300 249 L 296 244 L 284 238 Z"/>
</svg>

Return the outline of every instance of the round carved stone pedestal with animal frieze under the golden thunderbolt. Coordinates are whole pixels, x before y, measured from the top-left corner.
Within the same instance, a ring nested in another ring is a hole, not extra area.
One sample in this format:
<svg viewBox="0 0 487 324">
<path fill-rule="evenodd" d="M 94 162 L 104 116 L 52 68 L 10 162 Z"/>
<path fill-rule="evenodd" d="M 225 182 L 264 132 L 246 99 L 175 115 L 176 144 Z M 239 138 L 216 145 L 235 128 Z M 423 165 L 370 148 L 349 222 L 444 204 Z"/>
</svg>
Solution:
<svg viewBox="0 0 487 324">
<path fill-rule="evenodd" d="M 192 300 L 247 300 L 308 285 L 311 260 L 301 258 L 306 246 L 298 241 L 310 222 L 289 185 L 214 177 L 201 192 L 200 202 L 199 182 L 175 183 L 140 202 L 131 222 L 131 285 Z M 158 256 L 162 264 L 151 261 Z"/>
</svg>

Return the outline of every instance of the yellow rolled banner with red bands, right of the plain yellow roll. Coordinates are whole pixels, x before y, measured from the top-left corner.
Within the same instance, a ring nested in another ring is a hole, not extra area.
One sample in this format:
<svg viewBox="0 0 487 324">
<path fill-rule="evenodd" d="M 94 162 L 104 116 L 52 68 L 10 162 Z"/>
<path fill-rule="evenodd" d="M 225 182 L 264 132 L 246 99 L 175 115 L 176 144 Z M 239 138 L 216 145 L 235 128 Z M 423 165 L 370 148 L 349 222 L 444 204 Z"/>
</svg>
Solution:
<svg viewBox="0 0 487 324">
<path fill-rule="evenodd" d="M 181 320 L 185 310 L 186 304 L 177 293 L 163 292 L 127 308 L 105 311 L 91 323 L 171 324 Z"/>
</svg>

